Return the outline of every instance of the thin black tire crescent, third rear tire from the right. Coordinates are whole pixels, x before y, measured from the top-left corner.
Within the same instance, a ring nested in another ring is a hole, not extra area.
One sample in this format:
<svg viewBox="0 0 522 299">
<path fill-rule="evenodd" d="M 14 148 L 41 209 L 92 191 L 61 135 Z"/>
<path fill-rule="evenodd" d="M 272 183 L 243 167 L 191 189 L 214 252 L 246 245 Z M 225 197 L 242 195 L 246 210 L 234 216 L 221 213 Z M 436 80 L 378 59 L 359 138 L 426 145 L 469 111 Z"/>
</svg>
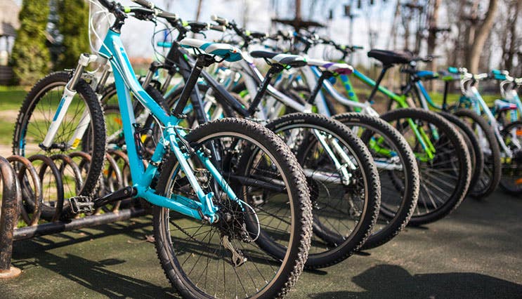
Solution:
<svg viewBox="0 0 522 299">
<path fill-rule="evenodd" d="M 438 112 L 441 114 L 446 120 L 450 121 L 450 123 L 455 125 L 455 128 L 458 129 L 462 138 L 464 138 L 464 142 L 466 142 L 466 146 L 469 150 L 469 156 L 471 157 L 471 183 L 468 188 L 468 194 L 472 192 L 474 186 L 481 178 L 481 175 L 484 170 L 484 153 L 481 149 L 481 145 L 476 138 L 475 133 L 471 130 L 471 128 L 453 114 L 448 112 Z"/>
</svg>

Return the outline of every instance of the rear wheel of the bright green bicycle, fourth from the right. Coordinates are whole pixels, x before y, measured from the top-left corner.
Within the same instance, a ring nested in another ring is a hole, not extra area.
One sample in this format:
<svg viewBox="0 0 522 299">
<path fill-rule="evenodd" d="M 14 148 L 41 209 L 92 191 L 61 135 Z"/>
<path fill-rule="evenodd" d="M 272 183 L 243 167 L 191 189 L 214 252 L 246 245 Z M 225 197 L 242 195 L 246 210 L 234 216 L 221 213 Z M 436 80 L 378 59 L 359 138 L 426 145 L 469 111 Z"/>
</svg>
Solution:
<svg viewBox="0 0 522 299">
<path fill-rule="evenodd" d="M 471 158 L 462 136 L 443 117 L 422 109 L 396 109 L 381 118 L 403 134 L 417 158 L 420 191 L 410 224 L 422 225 L 451 213 L 466 196 L 471 180 Z M 433 145 L 433 157 L 426 154 L 419 135 Z"/>
</svg>

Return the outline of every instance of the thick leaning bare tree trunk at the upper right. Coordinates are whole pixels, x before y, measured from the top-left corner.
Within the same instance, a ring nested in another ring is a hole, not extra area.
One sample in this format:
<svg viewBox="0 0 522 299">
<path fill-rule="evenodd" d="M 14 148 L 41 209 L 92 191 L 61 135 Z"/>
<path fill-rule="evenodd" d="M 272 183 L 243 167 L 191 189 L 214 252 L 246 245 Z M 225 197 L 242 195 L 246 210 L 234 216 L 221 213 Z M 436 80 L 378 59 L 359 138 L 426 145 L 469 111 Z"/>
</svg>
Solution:
<svg viewBox="0 0 522 299">
<path fill-rule="evenodd" d="M 497 0 L 490 0 L 490 4 L 488 6 L 488 12 L 485 14 L 484 21 L 481 26 L 475 32 L 475 39 L 473 44 L 471 45 L 471 50 L 469 51 L 469 70 L 472 73 L 478 72 L 478 61 L 481 58 L 482 48 L 485 44 L 485 40 L 488 38 L 490 34 L 491 28 L 493 27 L 493 21 L 495 20 L 495 13 L 497 13 Z"/>
</svg>

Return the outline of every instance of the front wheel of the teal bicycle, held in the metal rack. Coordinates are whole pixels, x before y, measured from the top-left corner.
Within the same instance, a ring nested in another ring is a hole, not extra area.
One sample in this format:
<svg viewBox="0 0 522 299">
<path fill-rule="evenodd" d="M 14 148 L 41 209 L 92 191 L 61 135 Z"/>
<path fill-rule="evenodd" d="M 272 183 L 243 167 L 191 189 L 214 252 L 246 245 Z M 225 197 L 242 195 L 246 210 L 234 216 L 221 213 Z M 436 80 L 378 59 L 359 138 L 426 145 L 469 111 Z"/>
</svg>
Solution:
<svg viewBox="0 0 522 299">
<path fill-rule="evenodd" d="M 79 189 L 79 195 L 91 196 L 96 192 L 98 178 L 100 178 L 103 159 L 105 157 L 105 122 L 103 121 L 103 110 L 98 98 L 89 84 L 83 79 L 77 84 L 77 95 L 72 99 L 71 105 L 65 114 L 63 123 L 56 133 L 53 145 L 55 148 L 42 150 L 39 144 L 44 140 L 51 120 L 58 109 L 61 97 L 70 74 L 67 72 L 54 72 L 49 74 L 38 83 L 27 94 L 15 124 L 13 134 L 13 154 L 30 157 L 34 154 L 53 156 L 55 154 L 70 154 L 78 149 L 91 155 L 91 163 L 86 169 L 86 177 L 83 178 L 81 188 L 71 185 L 67 190 Z M 91 118 L 84 138 L 76 148 L 67 146 L 74 131 L 79 125 L 82 114 L 87 112 Z M 85 142 L 89 136 L 89 142 Z M 72 181 L 71 181 L 72 182 Z M 67 180 L 64 180 L 67 185 Z M 42 217 L 50 219 L 54 213 L 54 204 L 47 203 L 42 207 Z"/>
</svg>

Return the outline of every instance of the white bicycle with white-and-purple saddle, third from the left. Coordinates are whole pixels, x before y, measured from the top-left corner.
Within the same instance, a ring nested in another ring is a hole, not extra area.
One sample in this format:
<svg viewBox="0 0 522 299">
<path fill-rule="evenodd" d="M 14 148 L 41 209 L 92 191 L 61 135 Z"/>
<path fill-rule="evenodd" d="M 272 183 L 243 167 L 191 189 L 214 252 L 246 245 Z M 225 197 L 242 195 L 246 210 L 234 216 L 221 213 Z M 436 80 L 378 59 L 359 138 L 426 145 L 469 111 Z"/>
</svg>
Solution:
<svg viewBox="0 0 522 299">
<path fill-rule="evenodd" d="M 266 39 L 277 39 L 277 35 L 270 36 L 262 32 L 252 32 L 237 27 L 235 22 L 228 21 L 216 16 L 213 19 L 218 22 L 218 25 L 228 27 L 230 31 L 234 32 L 240 38 L 242 48 L 247 49 L 249 44 L 254 44 L 256 41 L 263 41 Z M 279 32 L 282 34 L 282 32 Z M 257 55 L 258 52 L 256 52 Z M 263 55 L 279 55 L 274 52 L 263 51 Z M 320 62 L 318 60 L 311 60 L 307 58 L 307 67 L 299 69 L 289 69 L 289 71 L 280 74 L 277 81 L 273 85 L 273 91 L 269 93 L 266 102 L 259 107 L 264 117 L 275 117 L 281 114 L 290 113 L 295 109 L 307 109 L 306 111 L 319 112 L 327 115 L 323 109 L 313 107 L 314 103 L 310 101 L 303 101 L 300 97 L 289 93 L 292 91 L 292 86 L 285 84 L 285 79 L 294 76 L 296 72 L 304 71 L 310 65 L 320 67 L 322 74 L 334 77 L 337 73 L 350 72 L 351 67 L 346 64 L 333 64 Z M 323 67 L 324 66 L 324 67 Z M 293 71 L 293 72 L 292 72 Z M 239 75 L 240 76 L 237 76 Z M 259 69 L 252 63 L 242 63 L 239 65 L 230 66 L 230 69 L 218 69 L 215 73 L 216 77 L 221 79 L 228 89 L 232 89 L 235 93 L 254 98 L 259 91 L 256 86 L 263 81 L 263 76 Z M 235 78 L 240 77 L 242 83 L 235 81 Z M 269 86 L 270 87 L 270 86 Z M 243 91 L 244 90 L 244 91 Z M 314 89 L 315 91 L 315 89 Z M 245 102 L 249 102 L 248 98 L 243 98 Z M 250 101 L 251 102 L 251 101 Z M 379 218 L 377 225 L 374 226 L 372 234 L 365 241 L 362 248 L 374 248 L 385 244 L 395 237 L 400 230 L 405 227 L 414 211 L 417 204 L 419 178 L 415 157 L 410 150 L 409 145 L 402 138 L 393 127 L 384 121 L 378 119 L 377 112 L 374 112 L 370 105 L 358 105 L 367 115 L 361 114 L 343 114 L 332 117 L 341 121 L 341 123 L 350 126 L 351 128 L 358 127 L 355 130 L 360 137 L 363 137 L 365 144 L 373 142 L 372 140 L 379 140 L 380 152 L 387 152 L 388 156 L 379 154 L 372 150 L 372 147 L 367 147 L 372 154 L 374 162 L 379 170 L 379 180 L 381 181 L 381 209 L 379 211 Z M 375 117 L 377 115 L 377 117 Z M 363 133 L 365 131 L 365 133 Z M 375 148 L 375 147 L 374 147 Z M 391 172 L 396 172 L 395 185 L 386 184 L 389 181 L 388 175 Z M 386 191 L 386 192 L 385 192 Z"/>
</svg>

